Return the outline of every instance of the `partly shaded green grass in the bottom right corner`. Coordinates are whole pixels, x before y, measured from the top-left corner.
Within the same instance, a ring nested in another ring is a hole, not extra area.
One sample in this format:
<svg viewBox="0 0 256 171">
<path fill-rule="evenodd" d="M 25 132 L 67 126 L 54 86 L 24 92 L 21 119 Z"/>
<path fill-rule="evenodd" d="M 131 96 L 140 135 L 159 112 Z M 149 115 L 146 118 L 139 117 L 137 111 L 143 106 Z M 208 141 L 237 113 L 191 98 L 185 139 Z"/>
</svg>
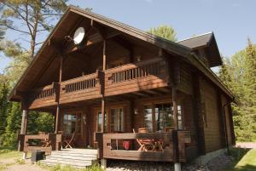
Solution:
<svg viewBox="0 0 256 171">
<path fill-rule="evenodd" d="M 225 171 L 255 171 L 256 170 L 256 149 L 245 150 L 234 148 L 231 150 L 234 162 Z"/>
</svg>

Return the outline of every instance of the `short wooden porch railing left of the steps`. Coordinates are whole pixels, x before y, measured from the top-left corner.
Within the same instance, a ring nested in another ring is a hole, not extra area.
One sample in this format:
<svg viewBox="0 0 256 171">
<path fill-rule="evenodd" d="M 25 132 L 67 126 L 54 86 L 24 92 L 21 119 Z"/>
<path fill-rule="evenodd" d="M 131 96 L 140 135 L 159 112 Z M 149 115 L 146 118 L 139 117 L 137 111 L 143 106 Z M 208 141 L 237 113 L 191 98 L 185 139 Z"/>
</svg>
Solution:
<svg viewBox="0 0 256 171">
<path fill-rule="evenodd" d="M 36 151 L 41 150 L 46 153 L 61 150 L 61 134 L 19 134 L 19 151 Z M 42 141 L 47 140 L 47 145 Z"/>
</svg>

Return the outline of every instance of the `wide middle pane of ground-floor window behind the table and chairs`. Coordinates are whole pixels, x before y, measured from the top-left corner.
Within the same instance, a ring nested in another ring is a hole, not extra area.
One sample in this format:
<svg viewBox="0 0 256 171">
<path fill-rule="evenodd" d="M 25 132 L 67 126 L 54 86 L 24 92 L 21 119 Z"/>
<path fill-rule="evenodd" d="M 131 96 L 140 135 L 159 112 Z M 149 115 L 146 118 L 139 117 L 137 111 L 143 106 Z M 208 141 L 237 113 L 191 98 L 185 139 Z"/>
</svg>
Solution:
<svg viewBox="0 0 256 171">
<path fill-rule="evenodd" d="M 173 127 L 173 114 L 171 104 L 154 105 L 156 131 L 162 131 L 166 127 Z"/>
</svg>

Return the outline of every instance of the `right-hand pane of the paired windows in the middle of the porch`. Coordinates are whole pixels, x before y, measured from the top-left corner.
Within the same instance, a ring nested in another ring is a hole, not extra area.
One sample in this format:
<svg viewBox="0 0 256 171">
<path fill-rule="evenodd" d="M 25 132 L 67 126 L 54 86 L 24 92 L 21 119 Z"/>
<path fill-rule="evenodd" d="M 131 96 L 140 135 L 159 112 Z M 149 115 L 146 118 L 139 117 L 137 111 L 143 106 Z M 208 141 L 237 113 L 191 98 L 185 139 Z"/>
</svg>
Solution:
<svg viewBox="0 0 256 171">
<path fill-rule="evenodd" d="M 124 131 L 124 112 L 122 108 L 111 109 L 111 123 L 110 131 L 123 132 Z"/>
</svg>

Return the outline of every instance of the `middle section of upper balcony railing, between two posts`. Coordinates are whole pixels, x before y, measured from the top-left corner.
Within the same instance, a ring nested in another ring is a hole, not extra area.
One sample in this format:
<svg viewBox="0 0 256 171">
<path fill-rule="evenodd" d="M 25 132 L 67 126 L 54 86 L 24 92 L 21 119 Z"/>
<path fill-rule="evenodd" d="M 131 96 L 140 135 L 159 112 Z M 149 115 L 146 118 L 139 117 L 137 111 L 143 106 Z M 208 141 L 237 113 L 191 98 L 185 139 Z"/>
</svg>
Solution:
<svg viewBox="0 0 256 171">
<path fill-rule="evenodd" d="M 100 97 L 102 94 L 98 72 L 61 83 L 61 104 Z"/>
</svg>

